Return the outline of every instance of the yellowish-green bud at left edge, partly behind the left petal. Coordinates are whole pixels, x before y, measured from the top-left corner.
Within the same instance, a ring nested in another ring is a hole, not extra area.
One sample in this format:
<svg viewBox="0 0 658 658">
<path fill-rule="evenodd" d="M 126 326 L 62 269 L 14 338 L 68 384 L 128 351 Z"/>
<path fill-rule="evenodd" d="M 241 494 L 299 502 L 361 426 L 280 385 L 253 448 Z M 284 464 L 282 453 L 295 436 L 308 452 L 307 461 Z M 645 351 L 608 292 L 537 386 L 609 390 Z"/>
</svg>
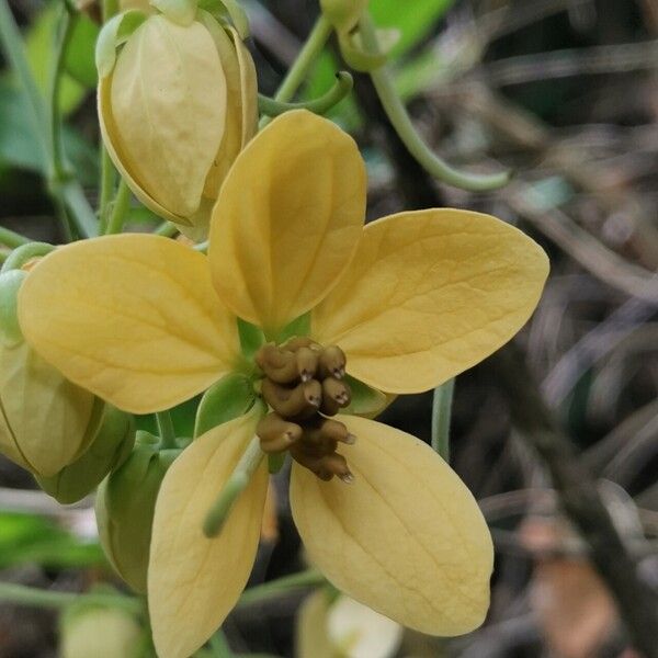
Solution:
<svg viewBox="0 0 658 658">
<path fill-rule="evenodd" d="M 25 276 L 20 270 L 0 275 L 0 452 L 49 477 L 90 445 L 104 404 L 66 379 L 23 339 L 15 307 Z"/>
</svg>

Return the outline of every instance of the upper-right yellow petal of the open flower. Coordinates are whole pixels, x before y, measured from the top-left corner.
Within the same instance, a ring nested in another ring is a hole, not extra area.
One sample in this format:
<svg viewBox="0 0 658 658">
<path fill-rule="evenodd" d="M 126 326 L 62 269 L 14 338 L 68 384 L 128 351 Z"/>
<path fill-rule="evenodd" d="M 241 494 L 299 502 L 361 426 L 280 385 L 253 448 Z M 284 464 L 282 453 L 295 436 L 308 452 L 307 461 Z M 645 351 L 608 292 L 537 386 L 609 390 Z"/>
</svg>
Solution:
<svg viewBox="0 0 658 658">
<path fill-rule="evenodd" d="M 364 234 L 314 309 L 313 334 L 388 393 L 428 390 L 495 352 L 527 321 L 548 274 L 538 245 L 479 213 L 401 213 Z"/>
</svg>

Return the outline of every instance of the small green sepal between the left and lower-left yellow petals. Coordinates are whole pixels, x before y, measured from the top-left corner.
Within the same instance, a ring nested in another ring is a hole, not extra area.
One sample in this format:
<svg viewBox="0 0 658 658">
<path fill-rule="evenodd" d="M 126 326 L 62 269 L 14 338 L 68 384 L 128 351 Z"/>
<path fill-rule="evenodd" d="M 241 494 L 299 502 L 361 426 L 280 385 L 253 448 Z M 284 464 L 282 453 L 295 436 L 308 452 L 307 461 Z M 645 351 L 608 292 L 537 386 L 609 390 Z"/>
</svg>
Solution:
<svg viewBox="0 0 658 658">
<path fill-rule="evenodd" d="M 194 438 L 208 430 L 243 416 L 251 409 L 256 393 L 251 379 L 239 373 L 222 377 L 201 398 L 194 423 Z"/>
</svg>

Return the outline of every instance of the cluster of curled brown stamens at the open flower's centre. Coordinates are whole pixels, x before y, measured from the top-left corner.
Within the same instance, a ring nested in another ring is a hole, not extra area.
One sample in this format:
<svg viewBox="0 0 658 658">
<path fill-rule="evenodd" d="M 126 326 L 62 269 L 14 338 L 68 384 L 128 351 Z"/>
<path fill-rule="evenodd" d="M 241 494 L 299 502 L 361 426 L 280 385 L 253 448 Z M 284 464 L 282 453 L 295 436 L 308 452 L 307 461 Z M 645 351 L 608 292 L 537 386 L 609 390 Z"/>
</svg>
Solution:
<svg viewBox="0 0 658 658">
<path fill-rule="evenodd" d="M 350 445 L 356 438 L 342 422 L 329 418 L 351 401 L 343 379 L 343 351 L 309 338 L 293 338 L 282 345 L 263 345 L 256 363 L 264 375 L 261 395 L 272 409 L 256 430 L 262 451 L 287 450 L 322 480 L 336 475 L 344 483 L 353 481 L 345 458 L 336 451 L 339 443 Z"/>
</svg>

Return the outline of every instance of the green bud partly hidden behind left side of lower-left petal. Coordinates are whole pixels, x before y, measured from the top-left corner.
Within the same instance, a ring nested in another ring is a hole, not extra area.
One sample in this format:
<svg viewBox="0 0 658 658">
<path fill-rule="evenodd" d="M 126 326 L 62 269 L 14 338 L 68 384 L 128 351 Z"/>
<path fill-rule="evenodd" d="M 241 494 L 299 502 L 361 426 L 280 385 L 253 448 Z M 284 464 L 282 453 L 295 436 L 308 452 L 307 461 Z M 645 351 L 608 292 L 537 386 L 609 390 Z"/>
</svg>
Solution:
<svg viewBox="0 0 658 658">
<path fill-rule="evenodd" d="M 135 450 L 99 487 L 95 503 L 101 545 L 116 572 L 146 592 L 151 524 L 162 478 L 180 450 L 158 451 L 159 439 L 137 432 Z"/>
</svg>

